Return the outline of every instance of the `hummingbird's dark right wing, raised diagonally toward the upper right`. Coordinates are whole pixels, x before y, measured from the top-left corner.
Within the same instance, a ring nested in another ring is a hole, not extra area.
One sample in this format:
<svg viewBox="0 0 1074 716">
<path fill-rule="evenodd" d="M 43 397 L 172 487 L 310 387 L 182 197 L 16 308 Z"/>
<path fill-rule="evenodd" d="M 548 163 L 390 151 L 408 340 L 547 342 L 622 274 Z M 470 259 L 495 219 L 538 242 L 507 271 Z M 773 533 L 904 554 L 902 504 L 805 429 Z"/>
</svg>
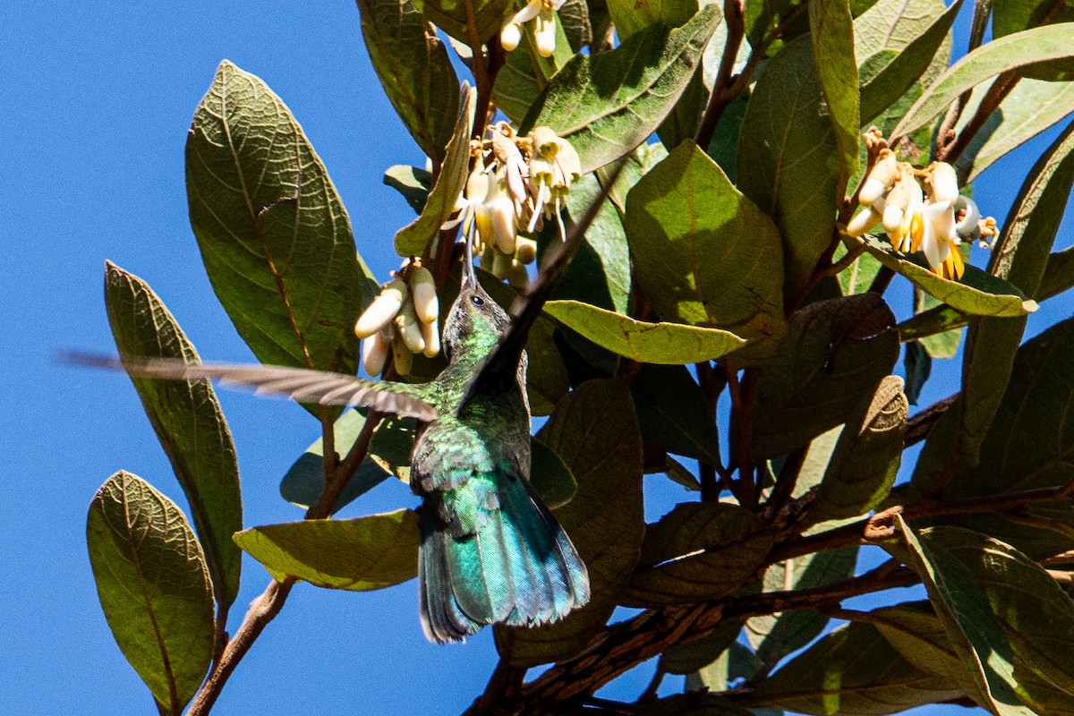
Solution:
<svg viewBox="0 0 1074 716">
<path fill-rule="evenodd" d="M 626 166 L 626 160 L 621 160 L 611 171 L 600 193 L 578 223 L 570 228 L 567 240 L 553 243 L 545 252 L 545 260 L 541 261 L 540 269 L 537 272 L 537 280 L 529 287 L 525 296 L 520 296 L 514 301 L 510 310 L 511 325 L 489 354 L 489 357 L 481 364 L 474 380 L 470 381 L 466 396 L 455 410 L 456 414 L 466 407 L 475 395 L 504 392 L 510 390 L 518 382 L 519 361 L 522 360 L 522 351 L 526 347 L 529 328 L 543 310 L 545 302 L 549 299 L 560 279 L 567 272 L 567 265 L 585 238 L 585 232 L 590 224 L 597 218 L 600 206 L 608 199 L 608 194 L 615 186 L 624 166 Z"/>
</svg>

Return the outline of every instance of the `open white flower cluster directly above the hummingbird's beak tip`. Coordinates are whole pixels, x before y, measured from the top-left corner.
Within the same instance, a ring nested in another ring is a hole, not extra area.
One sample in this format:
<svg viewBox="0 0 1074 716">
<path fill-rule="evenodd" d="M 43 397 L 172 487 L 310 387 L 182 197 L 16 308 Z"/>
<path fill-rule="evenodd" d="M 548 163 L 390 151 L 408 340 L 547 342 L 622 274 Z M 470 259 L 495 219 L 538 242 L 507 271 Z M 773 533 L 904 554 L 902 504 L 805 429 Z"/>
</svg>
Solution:
<svg viewBox="0 0 1074 716">
<path fill-rule="evenodd" d="M 525 264 L 536 259 L 537 244 L 519 232 L 539 231 L 554 215 L 566 237 L 560 211 L 570 185 L 581 178 L 581 161 L 570 143 L 548 127 L 524 137 L 507 122 L 489 129 L 490 138 L 475 143 L 477 167 L 455 202 L 459 215 L 442 228 L 461 223 L 482 267 L 523 288 Z"/>
</svg>

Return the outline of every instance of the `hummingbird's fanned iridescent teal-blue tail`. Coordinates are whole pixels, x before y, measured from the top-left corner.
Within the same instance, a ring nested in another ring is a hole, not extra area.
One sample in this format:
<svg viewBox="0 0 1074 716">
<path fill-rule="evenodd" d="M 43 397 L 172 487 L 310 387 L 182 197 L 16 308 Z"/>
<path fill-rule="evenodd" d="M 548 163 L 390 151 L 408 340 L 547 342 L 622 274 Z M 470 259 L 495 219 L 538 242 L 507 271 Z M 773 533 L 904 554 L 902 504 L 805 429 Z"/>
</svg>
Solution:
<svg viewBox="0 0 1074 716">
<path fill-rule="evenodd" d="M 490 479 L 492 478 L 492 479 Z M 590 600 L 585 565 L 528 481 L 475 474 L 425 495 L 419 595 L 430 641 L 555 622 Z"/>
</svg>

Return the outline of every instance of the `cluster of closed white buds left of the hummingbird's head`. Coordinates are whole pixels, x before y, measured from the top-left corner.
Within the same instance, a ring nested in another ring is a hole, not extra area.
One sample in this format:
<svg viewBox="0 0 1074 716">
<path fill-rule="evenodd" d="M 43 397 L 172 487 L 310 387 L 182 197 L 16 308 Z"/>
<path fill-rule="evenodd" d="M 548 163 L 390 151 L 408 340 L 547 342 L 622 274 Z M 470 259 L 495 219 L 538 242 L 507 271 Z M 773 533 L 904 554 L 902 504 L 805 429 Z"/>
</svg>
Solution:
<svg viewBox="0 0 1074 716">
<path fill-rule="evenodd" d="M 383 284 L 380 295 L 354 324 L 354 335 L 362 339 L 365 371 L 379 376 L 389 350 L 401 376 L 410 372 L 415 353 L 429 357 L 439 353 L 439 315 L 436 282 L 420 261 L 411 260 L 393 272 L 392 280 Z"/>
</svg>

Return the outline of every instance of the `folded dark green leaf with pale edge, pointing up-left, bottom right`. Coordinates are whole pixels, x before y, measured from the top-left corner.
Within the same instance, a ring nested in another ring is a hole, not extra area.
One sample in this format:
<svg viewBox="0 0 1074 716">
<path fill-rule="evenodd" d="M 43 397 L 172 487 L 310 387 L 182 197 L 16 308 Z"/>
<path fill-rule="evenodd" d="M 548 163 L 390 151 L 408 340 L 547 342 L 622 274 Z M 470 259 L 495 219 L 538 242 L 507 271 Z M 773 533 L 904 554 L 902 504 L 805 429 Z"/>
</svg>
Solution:
<svg viewBox="0 0 1074 716">
<path fill-rule="evenodd" d="M 1014 656 L 970 570 L 943 550 L 931 549 L 902 517 L 896 524 L 906 547 L 906 566 L 917 572 L 964 671 L 956 683 L 999 716 L 1032 716 L 1015 696 Z"/>
</svg>

